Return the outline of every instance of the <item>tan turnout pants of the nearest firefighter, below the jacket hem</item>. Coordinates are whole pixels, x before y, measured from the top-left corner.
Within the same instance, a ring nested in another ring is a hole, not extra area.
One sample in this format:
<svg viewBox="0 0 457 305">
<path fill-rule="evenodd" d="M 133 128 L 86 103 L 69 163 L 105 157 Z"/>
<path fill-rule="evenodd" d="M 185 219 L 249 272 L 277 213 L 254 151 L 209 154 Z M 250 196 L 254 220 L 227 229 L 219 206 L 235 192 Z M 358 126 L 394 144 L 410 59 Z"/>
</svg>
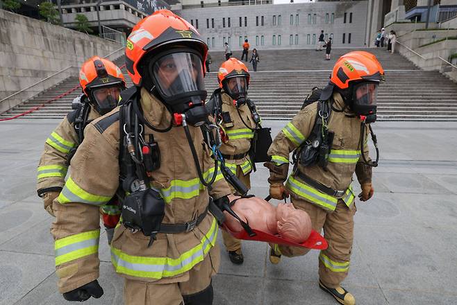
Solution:
<svg viewBox="0 0 457 305">
<path fill-rule="evenodd" d="M 211 284 L 211 277 L 219 268 L 219 247 L 215 245 L 206 255 L 205 259 L 189 271 L 188 281 L 174 283 L 145 283 L 125 279 L 124 304 L 125 305 L 181 305 L 183 296 L 196 295 L 206 290 Z M 171 278 L 170 281 L 173 281 Z M 208 297 L 203 296 L 208 303 Z M 192 304 L 193 305 L 193 304 Z"/>
</svg>

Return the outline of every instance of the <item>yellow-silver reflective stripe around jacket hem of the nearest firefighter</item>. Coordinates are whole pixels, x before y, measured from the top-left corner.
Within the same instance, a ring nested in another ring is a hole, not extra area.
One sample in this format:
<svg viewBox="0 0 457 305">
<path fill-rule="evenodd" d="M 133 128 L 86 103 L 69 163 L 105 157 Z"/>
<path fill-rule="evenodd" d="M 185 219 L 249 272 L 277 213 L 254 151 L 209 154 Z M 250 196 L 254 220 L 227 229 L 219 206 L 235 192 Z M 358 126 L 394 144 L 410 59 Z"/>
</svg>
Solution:
<svg viewBox="0 0 457 305">
<path fill-rule="evenodd" d="M 204 257 L 216 243 L 217 222 L 213 223 L 208 233 L 203 236 L 199 245 L 184 252 L 177 259 L 170 257 L 133 256 L 122 250 L 111 247 L 111 261 L 117 273 L 131 275 L 132 277 L 146 277 L 162 279 L 174 277 L 186 272 L 203 261 Z"/>
</svg>

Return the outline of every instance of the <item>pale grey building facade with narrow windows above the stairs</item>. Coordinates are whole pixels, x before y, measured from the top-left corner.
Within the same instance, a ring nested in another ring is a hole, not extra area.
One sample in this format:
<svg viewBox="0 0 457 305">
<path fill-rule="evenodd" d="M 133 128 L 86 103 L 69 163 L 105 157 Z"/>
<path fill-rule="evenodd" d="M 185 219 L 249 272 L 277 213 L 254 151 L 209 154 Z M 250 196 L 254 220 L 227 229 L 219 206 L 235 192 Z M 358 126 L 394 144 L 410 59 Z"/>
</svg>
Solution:
<svg viewBox="0 0 457 305">
<path fill-rule="evenodd" d="M 326 38 L 333 38 L 333 47 L 360 48 L 366 43 L 367 3 L 322 1 L 187 8 L 178 14 L 199 30 L 211 51 L 222 51 L 225 42 L 233 51 L 241 50 L 245 39 L 251 49 L 315 49 L 321 30 Z"/>
</svg>

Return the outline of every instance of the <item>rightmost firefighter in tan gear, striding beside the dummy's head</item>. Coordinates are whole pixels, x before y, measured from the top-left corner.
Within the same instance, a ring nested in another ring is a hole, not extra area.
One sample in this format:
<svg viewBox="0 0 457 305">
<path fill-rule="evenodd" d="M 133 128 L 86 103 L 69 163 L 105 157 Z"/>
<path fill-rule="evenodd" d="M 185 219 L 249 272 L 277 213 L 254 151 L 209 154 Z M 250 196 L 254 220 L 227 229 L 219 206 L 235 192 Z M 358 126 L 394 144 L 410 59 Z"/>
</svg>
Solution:
<svg viewBox="0 0 457 305">
<path fill-rule="evenodd" d="M 369 159 L 366 139 L 371 130 L 368 123 L 376 119 L 376 92 L 383 76 L 374 55 L 358 51 L 343 55 L 320 101 L 304 107 L 285 125 L 269 148 L 272 162 L 265 163 L 272 198 L 290 195 L 294 207 L 309 214 L 313 229 L 324 229 L 329 247 L 319 254 L 319 287 L 346 305 L 356 302 L 340 286 L 349 271 L 354 236 L 356 204 L 351 180 L 355 172 L 361 201 L 372 198 L 372 166 L 377 165 L 379 154 L 376 162 Z M 288 178 L 292 151 L 294 171 Z M 269 259 L 279 263 L 281 255 L 307 252 L 271 245 Z"/>
</svg>

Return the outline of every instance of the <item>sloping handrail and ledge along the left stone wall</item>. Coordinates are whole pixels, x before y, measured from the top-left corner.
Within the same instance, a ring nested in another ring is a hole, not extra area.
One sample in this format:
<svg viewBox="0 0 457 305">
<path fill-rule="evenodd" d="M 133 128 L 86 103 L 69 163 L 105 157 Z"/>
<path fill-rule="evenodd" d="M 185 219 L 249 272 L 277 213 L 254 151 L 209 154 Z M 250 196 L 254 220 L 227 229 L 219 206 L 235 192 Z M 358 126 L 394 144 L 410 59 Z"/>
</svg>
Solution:
<svg viewBox="0 0 457 305">
<path fill-rule="evenodd" d="M 124 47 L 119 48 L 108 55 L 104 56 L 103 58 L 119 58 L 124 54 Z M 19 90 L 11 94 L 10 96 L 6 96 L 6 98 L 2 98 L 0 100 L 0 113 L 6 112 L 11 108 L 24 103 L 30 98 L 37 96 L 40 92 L 47 90 L 55 85 L 58 85 L 63 80 L 69 78 L 70 76 L 78 76 L 79 67 L 66 67 L 56 73 L 53 73 L 51 76 L 44 78 L 38 82 L 35 82 L 33 85 L 30 85 L 24 89 Z"/>
</svg>

